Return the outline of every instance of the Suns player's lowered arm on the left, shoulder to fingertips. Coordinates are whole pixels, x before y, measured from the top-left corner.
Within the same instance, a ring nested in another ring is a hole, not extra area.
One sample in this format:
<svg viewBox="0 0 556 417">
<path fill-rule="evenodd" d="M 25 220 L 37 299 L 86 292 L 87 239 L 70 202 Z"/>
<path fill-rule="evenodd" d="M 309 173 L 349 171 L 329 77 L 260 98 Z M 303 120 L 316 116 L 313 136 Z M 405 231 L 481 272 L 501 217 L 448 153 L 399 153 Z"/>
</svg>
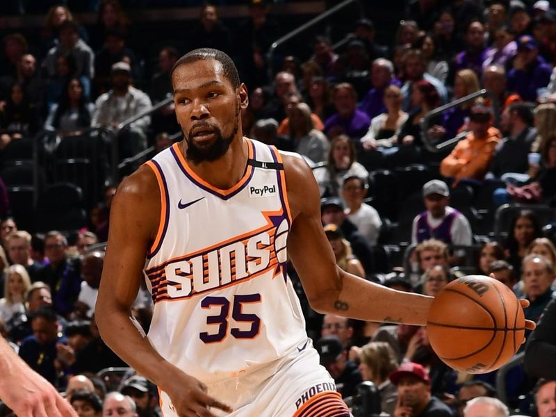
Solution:
<svg viewBox="0 0 556 417">
<path fill-rule="evenodd" d="M 197 379 L 166 361 L 130 320 L 145 255 L 158 230 L 161 196 L 154 172 L 143 166 L 118 187 L 110 213 L 95 319 L 111 349 L 170 398 L 179 416 L 214 416 L 208 407 L 231 411 L 209 397 Z"/>
</svg>

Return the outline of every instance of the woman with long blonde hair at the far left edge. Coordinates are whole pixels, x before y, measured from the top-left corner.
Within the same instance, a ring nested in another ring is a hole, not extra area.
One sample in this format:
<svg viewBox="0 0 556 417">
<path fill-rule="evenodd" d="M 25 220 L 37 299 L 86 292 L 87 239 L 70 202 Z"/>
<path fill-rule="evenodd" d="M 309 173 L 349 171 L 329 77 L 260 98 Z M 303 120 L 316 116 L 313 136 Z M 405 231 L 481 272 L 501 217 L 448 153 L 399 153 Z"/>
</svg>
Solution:
<svg viewBox="0 0 556 417">
<path fill-rule="evenodd" d="M 7 322 L 16 314 L 25 313 L 25 297 L 31 279 L 23 265 L 12 265 L 6 270 L 4 297 L 0 298 L 0 319 Z"/>
</svg>

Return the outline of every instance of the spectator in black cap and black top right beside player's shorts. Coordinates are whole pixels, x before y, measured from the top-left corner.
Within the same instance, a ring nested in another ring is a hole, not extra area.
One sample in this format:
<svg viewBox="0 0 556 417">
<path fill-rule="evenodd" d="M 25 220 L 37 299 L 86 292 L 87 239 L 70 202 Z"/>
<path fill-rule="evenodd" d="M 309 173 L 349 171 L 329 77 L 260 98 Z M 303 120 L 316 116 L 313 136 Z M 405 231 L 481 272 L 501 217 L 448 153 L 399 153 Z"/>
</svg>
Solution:
<svg viewBox="0 0 556 417">
<path fill-rule="evenodd" d="M 325 336 L 316 343 L 320 364 L 329 372 L 336 382 L 336 389 L 342 398 L 355 394 L 358 384 L 363 382 L 357 364 L 347 359 L 347 350 L 336 336 Z"/>
</svg>

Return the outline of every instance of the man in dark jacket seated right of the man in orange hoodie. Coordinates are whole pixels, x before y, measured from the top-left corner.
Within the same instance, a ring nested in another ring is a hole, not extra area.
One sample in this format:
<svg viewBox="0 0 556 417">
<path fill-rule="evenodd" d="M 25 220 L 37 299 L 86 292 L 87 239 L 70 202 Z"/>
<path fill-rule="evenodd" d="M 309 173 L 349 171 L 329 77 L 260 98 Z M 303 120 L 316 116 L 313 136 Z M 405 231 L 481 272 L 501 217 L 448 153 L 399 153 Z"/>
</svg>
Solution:
<svg viewBox="0 0 556 417">
<path fill-rule="evenodd" d="M 533 112 L 529 104 L 515 103 L 505 108 L 500 120 L 500 129 L 507 136 L 494 149 L 487 178 L 525 183 L 528 181 L 528 154 L 537 138 L 533 127 Z"/>
</svg>

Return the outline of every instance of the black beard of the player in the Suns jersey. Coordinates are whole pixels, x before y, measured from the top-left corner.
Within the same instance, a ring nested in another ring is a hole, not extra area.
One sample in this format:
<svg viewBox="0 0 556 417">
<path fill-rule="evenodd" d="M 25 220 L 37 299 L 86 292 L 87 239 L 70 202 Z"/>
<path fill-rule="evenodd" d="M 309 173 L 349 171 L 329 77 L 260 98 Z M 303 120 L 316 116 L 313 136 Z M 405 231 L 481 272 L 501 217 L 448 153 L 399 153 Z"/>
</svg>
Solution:
<svg viewBox="0 0 556 417">
<path fill-rule="evenodd" d="M 224 137 L 222 134 L 222 130 L 220 127 L 216 126 L 215 124 L 211 124 L 208 122 L 199 122 L 195 124 L 195 128 L 198 127 L 208 127 L 213 129 L 214 136 L 216 136 L 215 140 L 206 146 L 198 146 L 195 142 L 191 139 L 193 137 L 192 131 L 193 127 L 189 130 L 189 134 L 186 135 L 185 132 L 183 133 L 184 138 L 187 142 L 187 149 L 186 149 L 186 158 L 189 161 L 193 162 L 194 164 L 202 163 L 204 161 L 216 161 L 218 158 L 224 156 L 228 151 L 228 148 L 231 145 L 231 142 L 234 141 L 234 137 L 236 133 L 238 133 L 239 129 L 239 106 L 236 102 L 235 106 L 235 115 L 234 115 L 234 129 L 231 131 L 229 136 Z"/>
</svg>

